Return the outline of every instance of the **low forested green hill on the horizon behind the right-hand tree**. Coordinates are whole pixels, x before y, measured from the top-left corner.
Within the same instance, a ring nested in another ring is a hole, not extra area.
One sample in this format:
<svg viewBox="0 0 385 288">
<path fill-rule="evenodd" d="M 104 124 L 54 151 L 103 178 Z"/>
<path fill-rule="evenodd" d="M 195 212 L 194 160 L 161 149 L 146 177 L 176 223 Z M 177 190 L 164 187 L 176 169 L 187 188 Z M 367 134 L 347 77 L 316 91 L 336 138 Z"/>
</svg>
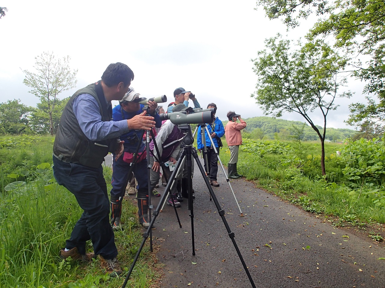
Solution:
<svg viewBox="0 0 385 288">
<path fill-rule="evenodd" d="M 263 137 L 269 139 L 278 139 L 288 140 L 290 135 L 294 135 L 293 125 L 297 128 L 301 128 L 304 122 L 300 121 L 290 121 L 280 118 L 272 118 L 268 116 L 258 116 L 253 118 L 244 119 L 247 122 L 247 127 L 244 129 L 244 132 L 248 132 L 258 138 L 262 139 Z M 226 125 L 228 121 L 223 121 L 223 126 Z M 320 131 L 322 127 L 316 125 Z M 254 131 L 255 129 L 258 130 Z M 348 137 L 353 137 L 357 134 L 357 131 L 352 129 L 343 129 L 343 128 L 326 128 L 326 137 L 325 140 L 330 141 L 343 141 Z M 263 136 L 262 136 L 263 135 Z M 262 137 L 261 137 L 262 136 Z M 317 133 L 306 123 L 303 131 L 304 141 L 318 141 L 320 138 Z"/>
</svg>

